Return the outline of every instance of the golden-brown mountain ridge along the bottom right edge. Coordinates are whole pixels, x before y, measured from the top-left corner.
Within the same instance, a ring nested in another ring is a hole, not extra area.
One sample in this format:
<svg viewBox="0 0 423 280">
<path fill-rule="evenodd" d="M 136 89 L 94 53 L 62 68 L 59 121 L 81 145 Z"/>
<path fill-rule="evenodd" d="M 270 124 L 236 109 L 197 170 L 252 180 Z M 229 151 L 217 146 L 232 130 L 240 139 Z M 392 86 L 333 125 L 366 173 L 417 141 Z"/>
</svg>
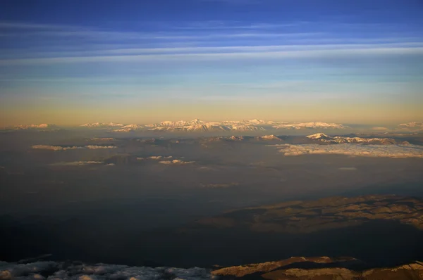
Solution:
<svg viewBox="0 0 423 280">
<path fill-rule="evenodd" d="M 223 279 L 423 279 L 423 262 L 395 267 L 365 267 L 354 257 L 290 257 L 285 260 L 223 267 L 212 271 Z"/>
</svg>

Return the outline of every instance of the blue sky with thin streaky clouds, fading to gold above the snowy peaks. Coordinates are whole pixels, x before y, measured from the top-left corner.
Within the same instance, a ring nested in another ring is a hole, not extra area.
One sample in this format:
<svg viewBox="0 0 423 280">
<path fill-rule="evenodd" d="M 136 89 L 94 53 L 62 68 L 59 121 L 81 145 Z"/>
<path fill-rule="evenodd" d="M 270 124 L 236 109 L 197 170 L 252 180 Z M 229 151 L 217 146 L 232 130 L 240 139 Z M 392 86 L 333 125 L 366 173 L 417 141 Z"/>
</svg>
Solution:
<svg viewBox="0 0 423 280">
<path fill-rule="evenodd" d="M 3 0 L 0 125 L 423 120 L 421 0 Z"/>
</svg>

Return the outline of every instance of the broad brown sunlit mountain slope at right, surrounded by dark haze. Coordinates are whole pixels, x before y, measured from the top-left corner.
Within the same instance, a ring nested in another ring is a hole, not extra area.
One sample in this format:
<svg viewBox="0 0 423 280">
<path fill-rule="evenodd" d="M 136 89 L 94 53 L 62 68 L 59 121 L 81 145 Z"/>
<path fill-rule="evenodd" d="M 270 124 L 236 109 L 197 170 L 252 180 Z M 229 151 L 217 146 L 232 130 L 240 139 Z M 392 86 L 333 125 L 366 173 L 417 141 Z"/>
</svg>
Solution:
<svg viewBox="0 0 423 280">
<path fill-rule="evenodd" d="M 422 230 L 422 214 L 423 201 L 418 198 L 340 196 L 233 210 L 216 217 L 200 219 L 192 229 L 246 227 L 257 232 L 300 234 L 388 219 Z"/>
</svg>

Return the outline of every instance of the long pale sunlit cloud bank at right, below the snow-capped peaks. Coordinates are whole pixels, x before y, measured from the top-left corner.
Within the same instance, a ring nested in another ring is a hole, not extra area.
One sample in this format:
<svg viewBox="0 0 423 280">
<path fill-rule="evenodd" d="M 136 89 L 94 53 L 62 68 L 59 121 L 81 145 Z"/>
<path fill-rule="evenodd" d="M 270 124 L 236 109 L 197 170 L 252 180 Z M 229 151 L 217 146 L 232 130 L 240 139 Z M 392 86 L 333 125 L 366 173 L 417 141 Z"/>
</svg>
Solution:
<svg viewBox="0 0 423 280">
<path fill-rule="evenodd" d="M 418 145 L 272 145 L 286 156 L 293 155 L 353 155 L 384 158 L 423 158 L 423 146 Z"/>
</svg>

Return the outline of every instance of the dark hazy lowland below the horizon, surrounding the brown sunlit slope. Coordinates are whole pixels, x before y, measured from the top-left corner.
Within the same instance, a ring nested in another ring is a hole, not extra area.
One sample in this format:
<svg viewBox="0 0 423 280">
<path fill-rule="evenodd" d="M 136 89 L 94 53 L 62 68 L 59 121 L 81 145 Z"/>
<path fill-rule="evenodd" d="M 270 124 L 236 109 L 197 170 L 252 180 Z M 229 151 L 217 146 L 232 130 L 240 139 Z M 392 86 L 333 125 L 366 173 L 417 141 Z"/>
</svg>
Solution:
<svg viewBox="0 0 423 280">
<path fill-rule="evenodd" d="M 0 259 L 52 254 L 52 260 L 153 267 L 242 265 L 293 255 L 348 255 L 368 267 L 421 260 L 423 250 L 415 247 L 421 224 L 376 218 L 335 220 L 334 227 L 311 231 L 274 225 L 250 231 L 235 226 L 250 219 L 244 214 L 209 218 L 247 207 L 262 213 L 262 205 L 298 199 L 423 196 L 422 134 L 305 136 L 312 133 L 153 138 L 102 129 L 4 132 Z M 216 229 L 198 231 L 195 221 L 212 221 Z"/>
</svg>

